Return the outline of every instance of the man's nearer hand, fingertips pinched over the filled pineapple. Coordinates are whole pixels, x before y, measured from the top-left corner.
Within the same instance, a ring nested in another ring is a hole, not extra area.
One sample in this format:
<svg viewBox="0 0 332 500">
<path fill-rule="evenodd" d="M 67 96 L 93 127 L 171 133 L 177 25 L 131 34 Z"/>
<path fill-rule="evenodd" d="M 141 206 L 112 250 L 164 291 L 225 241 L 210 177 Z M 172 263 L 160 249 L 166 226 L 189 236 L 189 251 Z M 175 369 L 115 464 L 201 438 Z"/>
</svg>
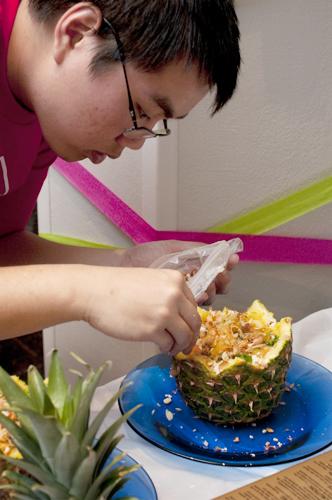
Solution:
<svg viewBox="0 0 332 500">
<path fill-rule="evenodd" d="M 201 319 L 184 276 L 170 269 L 78 267 L 78 317 L 122 340 L 144 340 L 175 355 L 191 352 Z"/>
</svg>

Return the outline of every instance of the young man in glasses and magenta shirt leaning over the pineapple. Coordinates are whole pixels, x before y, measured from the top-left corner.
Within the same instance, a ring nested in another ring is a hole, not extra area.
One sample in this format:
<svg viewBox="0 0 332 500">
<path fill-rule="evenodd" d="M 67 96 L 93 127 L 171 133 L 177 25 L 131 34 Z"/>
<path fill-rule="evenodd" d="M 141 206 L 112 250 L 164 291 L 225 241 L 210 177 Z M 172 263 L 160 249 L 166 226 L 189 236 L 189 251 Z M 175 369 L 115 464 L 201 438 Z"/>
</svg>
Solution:
<svg viewBox="0 0 332 500">
<path fill-rule="evenodd" d="M 188 352 L 193 296 L 179 272 L 146 267 L 190 243 L 77 249 L 24 227 L 57 155 L 115 159 L 169 134 L 167 120 L 207 92 L 214 111 L 227 102 L 240 64 L 232 1 L 1 0 L 0 35 L 0 336 L 85 320 Z M 219 276 L 210 299 L 228 281 Z"/>
</svg>

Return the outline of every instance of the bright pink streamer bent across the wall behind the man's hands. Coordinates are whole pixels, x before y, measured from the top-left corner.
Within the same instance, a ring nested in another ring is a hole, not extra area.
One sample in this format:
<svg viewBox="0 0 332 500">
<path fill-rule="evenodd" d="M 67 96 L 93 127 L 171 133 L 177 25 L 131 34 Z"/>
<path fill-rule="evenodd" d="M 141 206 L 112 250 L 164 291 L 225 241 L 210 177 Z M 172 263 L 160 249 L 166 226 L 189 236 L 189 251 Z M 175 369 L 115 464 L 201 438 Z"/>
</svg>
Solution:
<svg viewBox="0 0 332 500">
<path fill-rule="evenodd" d="M 56 170 L 134 243 L 166 239 L 213 243 L 239 236 L 244 243 L 241 260 L 292 264 L 332 264 L 332 240 L 289 236 L 256 236 L 192 231 L 158 231 L 102 184 L 80 163 L 58 158 Z"/>
</svg>

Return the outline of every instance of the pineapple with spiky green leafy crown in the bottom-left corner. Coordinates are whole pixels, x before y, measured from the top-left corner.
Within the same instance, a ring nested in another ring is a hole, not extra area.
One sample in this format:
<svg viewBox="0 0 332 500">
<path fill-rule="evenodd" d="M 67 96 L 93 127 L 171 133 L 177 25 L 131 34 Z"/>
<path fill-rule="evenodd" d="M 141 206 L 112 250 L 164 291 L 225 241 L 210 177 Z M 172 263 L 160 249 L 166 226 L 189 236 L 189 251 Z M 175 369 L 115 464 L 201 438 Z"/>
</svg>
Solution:
<svg viewBox="0 0 332 500">
<path fill-rule="evenodd" d="M 122 436 L 121 424 L 139 406 L 112 423 L 99 437 L 106 415 L 121 388 L 89 423 L 90 404 L 108 366 L 88 374 L 79 372 L 73 388 L 68 384 L 56 350 L 52 352 L 46 381 L 34 366 L 27 385 L 0 367 L 0 460 L 6 463 L 6 484 L 11 498 L 40 500 L 96 500 L 112 498 L 138 466 L 123 466 L 124 453 L 107 462 Z M 9 433 L 9 435 L 7 434 Z M 9 437 L 10 436 L 10 437 Z"/>
</svg>

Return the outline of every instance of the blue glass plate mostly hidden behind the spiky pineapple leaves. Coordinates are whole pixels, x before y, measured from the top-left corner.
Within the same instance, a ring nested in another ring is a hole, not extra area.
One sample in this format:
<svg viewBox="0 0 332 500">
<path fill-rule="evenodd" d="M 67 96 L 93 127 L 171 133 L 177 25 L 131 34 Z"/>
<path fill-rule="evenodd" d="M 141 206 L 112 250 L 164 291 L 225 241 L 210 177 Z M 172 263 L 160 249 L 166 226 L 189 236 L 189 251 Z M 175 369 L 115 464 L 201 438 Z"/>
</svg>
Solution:
<svg viewBox="0 0 332 500">
<path fill-rule="evenodd" d="M 121 453 L 121 450 L 116 448 L 113 453 L 108 458 L 105 466 L 117 455 Z M 136 460 L 126 455 L 120 462 L 116 465 L 124 465 L 126 467 L 137 464 Z M 140 467 L 137 471 L 132 472 L 128 475 L 128 481 L 126 484 L 112 497 L 114 499 L 120 499 L 123 497 L 136 497 L 139 500 L 157 500 L 157 492 L 155 490 L 154 484 L 150 479 L 150 476 L 146 473 L 143 467 Z"/>
</svg>

